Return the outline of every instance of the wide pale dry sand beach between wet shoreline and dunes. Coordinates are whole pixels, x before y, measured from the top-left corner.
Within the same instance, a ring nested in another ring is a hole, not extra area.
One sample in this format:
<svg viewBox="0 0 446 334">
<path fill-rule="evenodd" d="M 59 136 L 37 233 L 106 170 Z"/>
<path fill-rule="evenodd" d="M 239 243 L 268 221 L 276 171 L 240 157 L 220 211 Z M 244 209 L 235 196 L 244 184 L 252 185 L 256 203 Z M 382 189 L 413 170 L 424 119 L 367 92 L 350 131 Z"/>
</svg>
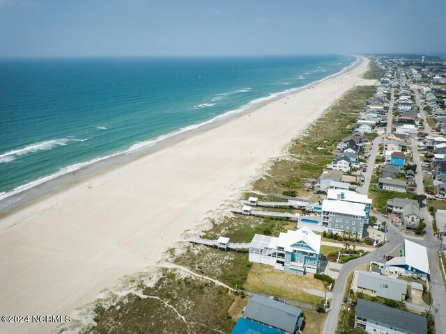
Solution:
<svg viewBox="0 0 446 334">
<path fill-rule="evenodd" d="M 70 315 L 155 264 L 346 90 L 373 84 L 360 79 L 367 65 L 15 209 L 0 221 L 0 314 Z M 55 326 L 0 324 L 0 333 Z"/>
</svg>

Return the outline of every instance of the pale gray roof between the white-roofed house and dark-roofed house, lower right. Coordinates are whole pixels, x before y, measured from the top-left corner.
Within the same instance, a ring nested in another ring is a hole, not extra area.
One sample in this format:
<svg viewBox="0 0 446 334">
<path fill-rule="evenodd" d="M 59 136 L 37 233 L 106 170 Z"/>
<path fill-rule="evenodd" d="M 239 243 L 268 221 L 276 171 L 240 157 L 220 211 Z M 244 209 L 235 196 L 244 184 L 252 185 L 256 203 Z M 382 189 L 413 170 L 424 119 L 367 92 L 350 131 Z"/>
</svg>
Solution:
<svg viewBox="0 0 446 334">
<path fill-rule="evenodd" d="M 356 275 L 356 286 L 376 291 L 376 296 L 378 297 L 401 301 L 401 296 L 407 293 L 407 283 L 405 280 L 362 270 L 357 270 Z"/>
</svg>

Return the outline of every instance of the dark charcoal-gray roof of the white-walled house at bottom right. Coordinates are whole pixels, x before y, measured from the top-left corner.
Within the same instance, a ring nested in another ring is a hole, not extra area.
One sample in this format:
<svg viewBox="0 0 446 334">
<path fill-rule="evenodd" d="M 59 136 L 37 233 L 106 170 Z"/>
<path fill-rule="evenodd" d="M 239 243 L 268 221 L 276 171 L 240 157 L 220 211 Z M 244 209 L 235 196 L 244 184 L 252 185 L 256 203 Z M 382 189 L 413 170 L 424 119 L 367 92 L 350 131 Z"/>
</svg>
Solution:
<svg viewBox="0 0 446 334">
<path fill-rule="evenodd" d="M 427 321 L 421 315 L 390 308 L 385 305 L 358 299 L 355 316 L 378 321 L 408 333 L 427 334 Z"/>
</svg>

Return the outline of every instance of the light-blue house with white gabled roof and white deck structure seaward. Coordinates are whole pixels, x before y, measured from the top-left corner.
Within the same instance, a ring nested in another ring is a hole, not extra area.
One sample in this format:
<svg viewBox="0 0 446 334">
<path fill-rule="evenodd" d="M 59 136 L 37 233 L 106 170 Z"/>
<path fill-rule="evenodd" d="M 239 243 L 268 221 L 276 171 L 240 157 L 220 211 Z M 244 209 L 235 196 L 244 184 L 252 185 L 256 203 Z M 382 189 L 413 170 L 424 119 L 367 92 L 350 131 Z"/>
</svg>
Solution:
<svg viewBox="0 0 446 334">
<path fill-rule="evenodd" d="M 269 264 L 288 273 L 316 273 L 322 237 L 309 228 L 281 232 L 279 237 L 254 235 L 249 261 Z"/>
</svg>

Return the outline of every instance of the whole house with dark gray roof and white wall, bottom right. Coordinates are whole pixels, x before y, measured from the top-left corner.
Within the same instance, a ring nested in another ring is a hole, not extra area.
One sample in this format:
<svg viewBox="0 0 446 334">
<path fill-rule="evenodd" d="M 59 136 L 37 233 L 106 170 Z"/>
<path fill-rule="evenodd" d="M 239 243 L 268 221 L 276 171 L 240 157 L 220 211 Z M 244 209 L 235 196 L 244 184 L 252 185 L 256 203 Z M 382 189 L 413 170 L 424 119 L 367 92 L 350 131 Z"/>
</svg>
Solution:
<svg viewBox="0 0 446 334">
<path fill-rule="evenodd" d="M 357 299 L 355 328 L 371 334 L 427 334 L 427 321 L 421 315 Z"/>
</svg>

